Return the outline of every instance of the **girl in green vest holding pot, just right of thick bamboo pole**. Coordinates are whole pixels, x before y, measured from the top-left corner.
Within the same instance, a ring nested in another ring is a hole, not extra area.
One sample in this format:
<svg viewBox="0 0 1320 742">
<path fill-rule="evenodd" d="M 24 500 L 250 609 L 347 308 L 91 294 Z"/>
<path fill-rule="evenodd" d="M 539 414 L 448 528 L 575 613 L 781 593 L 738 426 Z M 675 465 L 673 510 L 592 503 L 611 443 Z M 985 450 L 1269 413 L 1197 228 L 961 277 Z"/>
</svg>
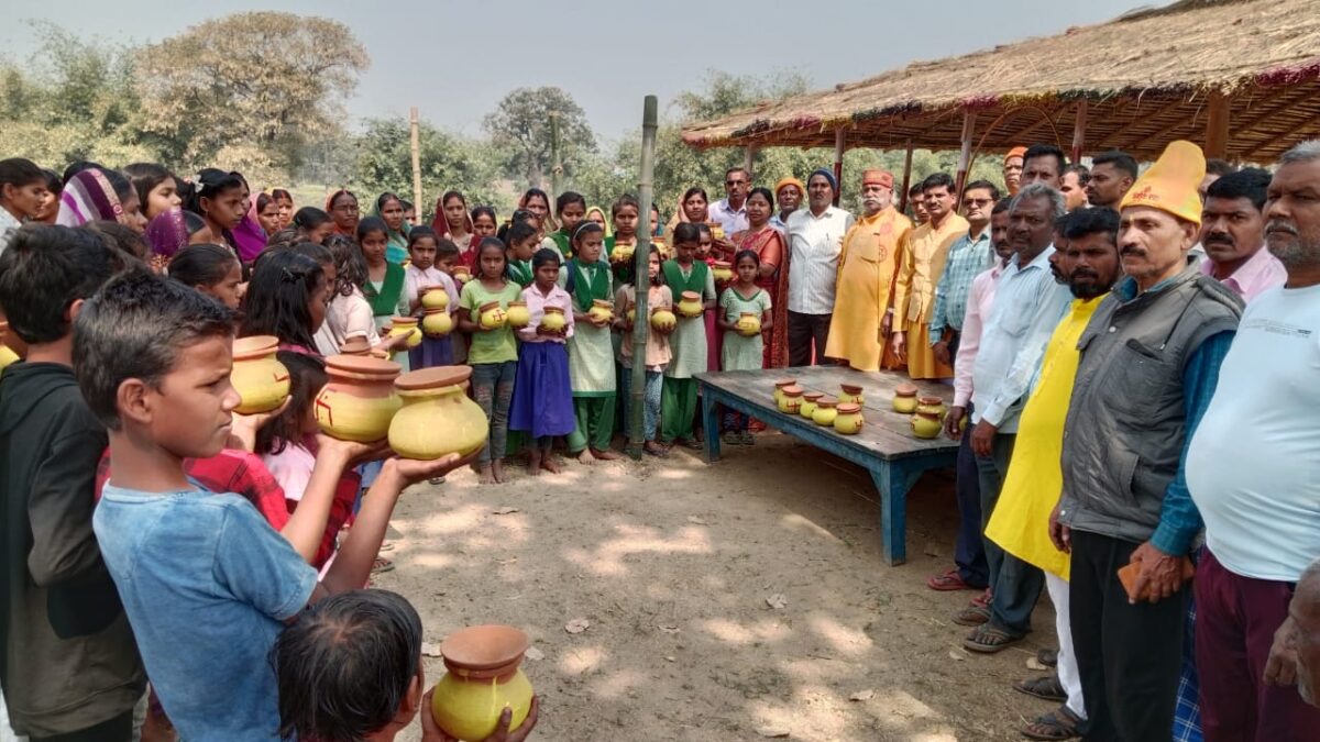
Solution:
<svg viewBox="0 0 1320 742">
<path fill-rule="evenodd" d="M 665 284 L 673 292 L 677 304 L 682 292 L 701 294 L 702 308 L 710 310 L 715 305 L 715 280 L 710 268 L 697 260 L 701 250 L 701 230 L 697 224 L 682 222 L 673 228 L 675 259 L 667 260 L 660 271 Z M 686 318 L 678 316 L 678 326 L 669 341 L 673 354 L 664 371 L 664 388 L 660 401 L 660 442 L 667 448 L 675 441 L 700 449 L 693 438 L 693 419 L 697 415 L 697 380 L 693 374 L 706 371 L 706 322 L 702 317 Z"/>
</svg>

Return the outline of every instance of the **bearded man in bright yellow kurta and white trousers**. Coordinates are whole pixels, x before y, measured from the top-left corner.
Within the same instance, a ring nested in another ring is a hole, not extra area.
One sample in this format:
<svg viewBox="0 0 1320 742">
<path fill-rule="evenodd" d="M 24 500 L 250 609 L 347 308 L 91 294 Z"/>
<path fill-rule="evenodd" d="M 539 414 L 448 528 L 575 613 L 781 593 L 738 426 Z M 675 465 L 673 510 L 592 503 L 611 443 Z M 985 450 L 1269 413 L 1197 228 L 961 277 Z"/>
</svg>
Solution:
<svg viewBox="0 0 1320 742">
<path fill-rule="evenodd" d="M 1081 677 L 1072 648 L 1068 611 L 1069 556 L 1049 539 L 1049 512 L 1063 491 L 1064 419 L 1072 399 L 1080 354 L 1077 339 L 1090 316 L 1121 275 L 1118 260 L 1118 213 L 1111 209 L 1073 211 L 1064 226 L 1067 248 L 1056 252 L 1055 277 L 1073 293 L 1072 310 L 1055 327 L 1040 363 L 1035 389 L 1018 422 L 1008 474 L 999 503 L 986 525 L 986 537 L 1003 551 L 1045 572 L 1045 586 L 1055 603 L 1059 632 L 1059 673 L 1027 680 L 1018 689 L 1034 696 L 1065 696 L 1061 708 L 1028 725 L 1032 734 L 1045 727 L 1076 727 L 1086 716 Z M 1041 737 L 1036 737 L 1041 738 Z"/>
</svg>

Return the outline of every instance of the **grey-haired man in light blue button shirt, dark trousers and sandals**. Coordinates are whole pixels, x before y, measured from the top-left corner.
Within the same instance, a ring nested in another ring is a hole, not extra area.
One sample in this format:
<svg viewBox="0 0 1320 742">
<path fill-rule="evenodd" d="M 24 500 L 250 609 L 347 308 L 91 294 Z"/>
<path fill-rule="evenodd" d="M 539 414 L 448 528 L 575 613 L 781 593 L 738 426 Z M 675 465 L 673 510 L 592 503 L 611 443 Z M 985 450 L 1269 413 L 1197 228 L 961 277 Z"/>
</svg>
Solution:
<svg viewBox="0 0 1320 742">
<path fill-rule="evenodd" d="M 972 370 L 972 453 L 979 473 L 982 525 L 997 510 L 1022 405 L 1040 370 L 1045 345 L 1068 309 L 1068 289 L 1055 281 L 1049 269 L 1055 220 L 1063 214 L 1063 194 L 1044 184 L 1023 186 L 1008 207 L 1014 256 L 999 276 Z M 993 654 L 1031 631 L 1031 613 L 1044 576 L 993 541 L 986 540 L 985 549 L 990 564 L 990 609 L 966 609 L 954 621 L 977 626 L 962 642 L 965 648 Z"/>
</svg>

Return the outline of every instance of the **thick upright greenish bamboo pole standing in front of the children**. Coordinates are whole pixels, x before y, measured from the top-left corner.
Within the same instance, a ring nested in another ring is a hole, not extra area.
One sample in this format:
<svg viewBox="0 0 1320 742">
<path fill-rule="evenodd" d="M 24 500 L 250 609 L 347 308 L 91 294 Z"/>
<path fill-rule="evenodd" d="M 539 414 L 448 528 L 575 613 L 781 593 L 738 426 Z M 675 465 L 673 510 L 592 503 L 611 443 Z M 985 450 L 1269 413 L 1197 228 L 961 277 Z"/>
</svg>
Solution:
<svg viewBox="0 0 1320 742">
<path fill-rule="evenodd" d="M 642 214 L 651 214 L 651 205 L 655 202 L 655 184 L 652 178 L 655 177 L 656 166 L 656 128 L 659 119 L 660 102 L 655 95 L 648 95 L 642 104 L 642 173 L 638 178 L 638 202 L 642 205 Z M 639 217 L 642 217 L 639 214 Z M 642 224 L 649 224 L 651 222 L 645 218 L 639 220 L 639 227 Z M 651 230 L 639 228 L 638 230 L 638 247 L 632 252 L 632 285 L 636 288 L 636 312 L 634 314 L 635 321 L 632 322 L 632 389 L 628 395 L 628 409 L 631 411 L 631 417 L 628 425 L 628 454 L 632 458 L 642 458 L 642 446 L 645 436 L 643 434 L 643 416 L 645 415 L 645 393 L 647 393 L 647 334 L 651 331 L 651 317 L 647 310 L 647 293 L 651 287 L 651 281 L 647 280 L 651 267 Z"/>
</svg>

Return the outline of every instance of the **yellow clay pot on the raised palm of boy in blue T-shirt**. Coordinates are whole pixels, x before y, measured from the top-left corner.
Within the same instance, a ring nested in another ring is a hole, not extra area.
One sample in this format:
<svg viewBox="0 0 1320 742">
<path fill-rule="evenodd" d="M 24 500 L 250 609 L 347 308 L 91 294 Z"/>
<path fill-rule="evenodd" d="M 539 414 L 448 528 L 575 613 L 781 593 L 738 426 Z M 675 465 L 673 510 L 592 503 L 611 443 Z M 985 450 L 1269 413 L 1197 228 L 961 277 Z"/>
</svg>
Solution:
<svg viewBox="0 0 1320 742">
<path fill-rule="evenodd" d="M 490 421 L 463 392 L 471 375 L 470 366 L 437 366 L 395 379 L 403 409 L 389 421 L 389 448 L 422 461 L 482 448 Z"/>
</svg>

